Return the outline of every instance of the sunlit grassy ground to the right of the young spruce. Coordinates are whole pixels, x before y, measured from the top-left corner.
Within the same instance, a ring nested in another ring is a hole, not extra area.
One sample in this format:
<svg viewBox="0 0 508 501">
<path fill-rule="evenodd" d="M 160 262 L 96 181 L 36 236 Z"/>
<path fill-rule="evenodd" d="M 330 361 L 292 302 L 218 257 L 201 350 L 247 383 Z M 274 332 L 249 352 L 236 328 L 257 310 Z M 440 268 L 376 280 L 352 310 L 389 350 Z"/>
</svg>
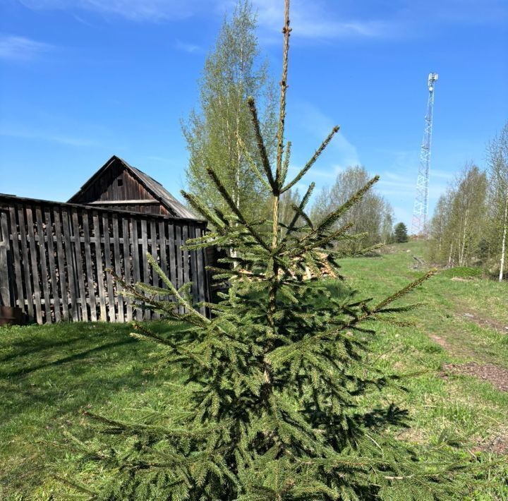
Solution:
<svg viewBox="0 0 508 501">
<path fill-rule="evenodd" d="M 393 253 L 342 260 L 347 282 L 379 300 L 427 271 L 425 267 L 413 269 L 413 255 L 424 255 L 421 243 L 388 250 Z M 443 364 L 469 361 L 508 368 L 508 330 L 504 329 L 508 326 L 508 283 L 457 281 L 449 271 L 441 272 L 400 303 L 419 301 L 426 305 L 406 316 L 415 327 L 377 326 L 371 361 L 387 372 L 423 371 L 407 380 L 409 393 L 389 395 L 409 409 L 413 418 L 413 427 L 402 436 L 416 442 L 457 443 L 464 450 L 489 454 L 496 449 L 508 454 L 508 393 L 473 376 L 442 372 Z M 494 488 L 476 499 L 508 500 L 504 475 L 492 472 Z"/>
</svg>

